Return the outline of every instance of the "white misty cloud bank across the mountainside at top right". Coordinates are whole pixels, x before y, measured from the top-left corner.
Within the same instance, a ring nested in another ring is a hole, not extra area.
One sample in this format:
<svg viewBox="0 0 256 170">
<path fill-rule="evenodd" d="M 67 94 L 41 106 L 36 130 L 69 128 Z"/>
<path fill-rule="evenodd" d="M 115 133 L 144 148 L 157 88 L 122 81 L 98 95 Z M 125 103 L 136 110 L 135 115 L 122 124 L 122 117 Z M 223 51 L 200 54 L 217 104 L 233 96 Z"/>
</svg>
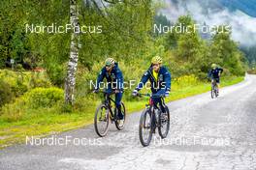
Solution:
<svg viewBox="0 0 256 170">
<path fill-rule="evenodd" d="M 232 37 L 240 44 L 256 44 L 256 18 L 240 11 L 230 12 L 216 0 L 165 0 L 166 8 L 161 12 L 171 21 L 183 14 L 192 14 L 200 24 L 229 24 L 233 28 Z"/>
</svg>

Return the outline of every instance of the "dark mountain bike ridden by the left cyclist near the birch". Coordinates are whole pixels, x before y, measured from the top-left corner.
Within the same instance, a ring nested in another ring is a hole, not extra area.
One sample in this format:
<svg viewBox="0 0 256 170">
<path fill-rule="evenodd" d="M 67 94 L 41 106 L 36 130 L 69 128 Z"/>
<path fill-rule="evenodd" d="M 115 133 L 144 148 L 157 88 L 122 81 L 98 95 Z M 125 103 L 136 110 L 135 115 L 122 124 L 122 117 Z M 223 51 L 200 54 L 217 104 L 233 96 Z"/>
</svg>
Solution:
<svg viewBox="0 0 256 170">
<path fill-rule="evenodd" d="M 101 92 L 104 94 L 102 103 L 97 107 L 94 116 L 94 128 L 96 133 L 100 137 L 106 136 L 109 130 L 110 122 L 115 124 L 118 130 L 124 128 L 126 110 L 124 103 L 121 102 L 121 112 L 123 114 L 123 120 L 119 120 L 117 117 L 117 107 L 111 96 L 118 92 L 107 93 L 106 91 Z"/>
</svg>

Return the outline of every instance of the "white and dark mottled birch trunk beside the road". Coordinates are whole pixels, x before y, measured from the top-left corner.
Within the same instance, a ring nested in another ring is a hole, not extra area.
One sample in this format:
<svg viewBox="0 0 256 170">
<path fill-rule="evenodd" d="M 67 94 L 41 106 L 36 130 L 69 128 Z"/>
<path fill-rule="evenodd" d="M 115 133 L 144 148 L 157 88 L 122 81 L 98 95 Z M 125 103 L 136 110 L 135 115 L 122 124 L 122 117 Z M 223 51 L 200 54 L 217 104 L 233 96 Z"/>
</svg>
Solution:
<svg viewBox="0 0 256 170">
<path fill-rule="evenodd" d="M 70 43 L 70 58 L 65 79 L 65 102 L 66 104 L 74 104 L 75 101 L 75 86 L 76 86 L 76 71 L 79 60 L 79 13 L 78 0 L 70 0 L 70 23 L 72 25 L 71 43 Z"/>
</svg>

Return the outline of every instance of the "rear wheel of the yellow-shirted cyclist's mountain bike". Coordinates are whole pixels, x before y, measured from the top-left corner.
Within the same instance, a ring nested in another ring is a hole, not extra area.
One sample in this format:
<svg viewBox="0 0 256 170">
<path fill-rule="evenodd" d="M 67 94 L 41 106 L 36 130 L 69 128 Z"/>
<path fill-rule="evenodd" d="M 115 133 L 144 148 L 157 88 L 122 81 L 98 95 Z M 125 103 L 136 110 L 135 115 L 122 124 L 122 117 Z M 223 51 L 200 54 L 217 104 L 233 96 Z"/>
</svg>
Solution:
<svg viewBox="0 0 256 170">
<path fill-rule="evenodd" d="M 162 113 L 159 115 L 158 119 L 158 133 L 161 136 L 161 138 L 166 138 L 170 129 L 170 112 L 169 108 L 166 106 L 165 107 L 166 112 Z"/>
</svg>

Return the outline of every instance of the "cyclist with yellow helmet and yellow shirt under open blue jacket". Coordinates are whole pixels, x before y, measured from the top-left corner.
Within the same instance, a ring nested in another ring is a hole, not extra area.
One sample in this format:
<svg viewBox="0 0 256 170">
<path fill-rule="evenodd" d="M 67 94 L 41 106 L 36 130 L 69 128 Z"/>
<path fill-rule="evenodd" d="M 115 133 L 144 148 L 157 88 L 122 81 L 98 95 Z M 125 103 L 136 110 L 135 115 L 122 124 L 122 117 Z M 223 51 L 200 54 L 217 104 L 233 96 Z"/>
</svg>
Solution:
<svg viewBox="0 0 256 170">
<path fill-rule="evenodd" d="M 144 87 L 144 84 L 149 79 L 151 83 L 151 92 L 154 96 L 168 97 L 171 91 L 171 73 L 167 68 L 162 66 L 162 58 L 155 56 L 151 60 L 151 66 L 139 83 L 138 87 L 133 91 L 133 96 L 137 96 L 139 91 Z M 162 113 L 165 113 L 165 106 L 163 105 L 162 98 L 153 98 L 155 104 L 160 104 Z"/>
</svg>

